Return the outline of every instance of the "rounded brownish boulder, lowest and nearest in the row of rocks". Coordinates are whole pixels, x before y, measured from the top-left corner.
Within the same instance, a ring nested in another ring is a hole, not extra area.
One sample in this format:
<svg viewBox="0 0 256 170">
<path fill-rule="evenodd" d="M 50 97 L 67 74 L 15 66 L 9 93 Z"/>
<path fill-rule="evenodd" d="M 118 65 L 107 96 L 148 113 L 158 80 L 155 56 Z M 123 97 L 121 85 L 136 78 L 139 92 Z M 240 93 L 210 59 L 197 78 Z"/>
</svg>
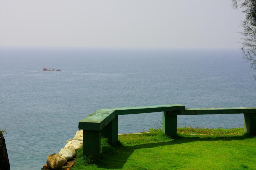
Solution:
<svg viewBox="0 0 256 170">
<path fill-rule="evenodd" d="M 60 157 L 58 153 L 53 153 L 47 157 L 46 164 L 50 169 L 59 169 L 61 168 L 67 160 Z"/>
</svg>

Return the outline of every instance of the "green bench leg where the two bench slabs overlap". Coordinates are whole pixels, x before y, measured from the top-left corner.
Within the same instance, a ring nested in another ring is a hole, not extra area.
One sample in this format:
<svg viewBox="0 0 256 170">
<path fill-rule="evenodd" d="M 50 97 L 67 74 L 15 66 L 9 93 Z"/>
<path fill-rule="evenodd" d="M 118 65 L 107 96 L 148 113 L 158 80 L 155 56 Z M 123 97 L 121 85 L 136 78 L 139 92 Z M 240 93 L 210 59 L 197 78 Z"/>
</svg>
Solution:
<svg viewBox="0 0 256 170">
<path fill-rule="evenodd" d="M 177 115 L 170 115 L 168 112 L 163 112 L 162 130 L 171 138 L 177 136 Z"/>
</svg>

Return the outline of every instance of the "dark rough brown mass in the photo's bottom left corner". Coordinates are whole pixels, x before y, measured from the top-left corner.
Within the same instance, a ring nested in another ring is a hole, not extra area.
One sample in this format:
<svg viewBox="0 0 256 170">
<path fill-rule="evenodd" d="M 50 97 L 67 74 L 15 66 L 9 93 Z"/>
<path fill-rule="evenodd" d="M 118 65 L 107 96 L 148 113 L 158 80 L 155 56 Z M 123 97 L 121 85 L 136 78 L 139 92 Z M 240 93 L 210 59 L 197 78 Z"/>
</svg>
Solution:
<svg viewBox="0 0 256 170">
<path fill-rule="evenodd" d="M 0 131 L 0 170 L 10 170 L 10 163 L 3 133 Z"/>
</svg>

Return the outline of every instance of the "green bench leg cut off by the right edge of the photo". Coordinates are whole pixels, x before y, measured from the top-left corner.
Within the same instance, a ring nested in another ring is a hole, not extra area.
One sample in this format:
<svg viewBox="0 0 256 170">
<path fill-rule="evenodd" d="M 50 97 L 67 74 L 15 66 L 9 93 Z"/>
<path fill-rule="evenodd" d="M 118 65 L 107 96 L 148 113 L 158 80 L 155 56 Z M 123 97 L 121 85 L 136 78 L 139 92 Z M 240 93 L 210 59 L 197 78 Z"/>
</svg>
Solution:
<svg viewBox="0 0 256 170">
<path fill-rule="evenodd" d="M 244 113 L 244 132 L 256 135 L 256 116 Z"/>
</svg>

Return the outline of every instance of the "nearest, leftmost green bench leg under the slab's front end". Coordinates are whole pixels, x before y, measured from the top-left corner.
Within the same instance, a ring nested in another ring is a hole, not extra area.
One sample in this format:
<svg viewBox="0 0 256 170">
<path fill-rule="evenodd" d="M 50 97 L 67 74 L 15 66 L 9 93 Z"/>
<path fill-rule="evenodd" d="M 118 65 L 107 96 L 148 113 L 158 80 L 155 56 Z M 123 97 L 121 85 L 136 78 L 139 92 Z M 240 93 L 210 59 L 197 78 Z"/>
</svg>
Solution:
<svg viewBox="0 0 256 170">
<path fill-rule="evenodd" d="M 100 159 L 100 131 L 83 130 L 83 155 L 92 160 Z"/>
</svg>

